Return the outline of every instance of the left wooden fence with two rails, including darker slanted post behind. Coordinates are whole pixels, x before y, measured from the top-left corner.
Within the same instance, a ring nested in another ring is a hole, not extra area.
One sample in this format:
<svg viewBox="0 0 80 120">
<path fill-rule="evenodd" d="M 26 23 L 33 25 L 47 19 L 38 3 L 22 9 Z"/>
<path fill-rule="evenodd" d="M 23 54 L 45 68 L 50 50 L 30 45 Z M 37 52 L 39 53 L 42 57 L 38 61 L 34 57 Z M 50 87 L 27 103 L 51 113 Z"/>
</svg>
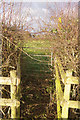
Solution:
<svg viewBox="0 0 80 120">
<path fill-rule="evenodd" d="M 10 77 L 0 77 L 0 85 L 10 85 L 10 99 L 0 98 L 0 106 L 11 107 L 11 119 L 20 118 L 20 60 L 18 62 L 17 71 L 10 71 Z M 18 95 L 16 97 L 16 95 Z M 16 99 L 18 98 L 18 99 Z"/>
</svg>

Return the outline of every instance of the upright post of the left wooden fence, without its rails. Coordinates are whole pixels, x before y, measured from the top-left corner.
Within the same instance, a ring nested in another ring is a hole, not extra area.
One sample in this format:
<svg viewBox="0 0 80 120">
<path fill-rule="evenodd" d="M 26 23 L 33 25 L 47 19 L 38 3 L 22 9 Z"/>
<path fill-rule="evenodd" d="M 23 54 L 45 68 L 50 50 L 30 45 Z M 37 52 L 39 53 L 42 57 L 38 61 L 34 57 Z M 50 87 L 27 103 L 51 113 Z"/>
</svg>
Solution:
<svg viewBox="0 0 80 120">
<path fill-rule="evenodd" d="M 16 71 L 10 71 L 10 77 L 11 77 L 11 99 L 16 99 L 16 83 L 17 83 L 17 77 L 16 77 Z M 11 106 L 11 118 L 16 118 L 16 106 Z"/>
</svg>

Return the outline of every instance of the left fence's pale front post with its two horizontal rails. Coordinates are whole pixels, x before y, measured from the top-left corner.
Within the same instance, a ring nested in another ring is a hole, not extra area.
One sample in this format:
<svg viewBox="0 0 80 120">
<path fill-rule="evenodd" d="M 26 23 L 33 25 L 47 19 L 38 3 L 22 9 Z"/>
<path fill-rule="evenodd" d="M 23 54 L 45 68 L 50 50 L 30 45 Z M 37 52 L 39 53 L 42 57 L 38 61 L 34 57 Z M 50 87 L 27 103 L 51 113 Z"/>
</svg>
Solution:
<svg viewBox="0 0 80 120">
<path fill-rule="evenodd" d="M 11 99 L 0 98 L 0 106 L 10 106 L 11 107 L 11 118 L 19 118 L 20 116 L 17 117 L 17 113 L 16 113 L 17 109 L 20 107 L 20 101 L 16 99 L 16 94 L 17 94 L 16 70 L 10 71 L 10 77 L 0 77 L 0 84 L 10 85 L 10 89 L 11 89 L 11 92 L 10 92 Z"/>
</svg>

